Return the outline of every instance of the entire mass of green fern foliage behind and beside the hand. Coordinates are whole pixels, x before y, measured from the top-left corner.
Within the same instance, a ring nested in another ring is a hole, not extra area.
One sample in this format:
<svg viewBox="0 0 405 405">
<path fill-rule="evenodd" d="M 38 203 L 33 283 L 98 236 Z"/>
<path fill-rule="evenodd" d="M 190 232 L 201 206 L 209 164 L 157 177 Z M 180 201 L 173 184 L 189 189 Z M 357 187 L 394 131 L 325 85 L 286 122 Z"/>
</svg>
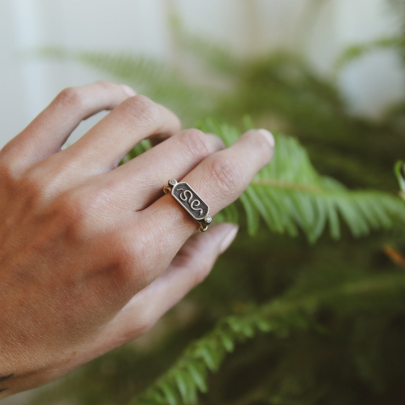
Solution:
<svg viewBox="0 0 405 405">
<path fill-rule="evenodd" d="M 392 6 L 405 21 L 403 2 Z M 179 21 L 173 32 L 195 69 L 129 55 L 42 53 L 95 66 L 227 143 L 249 115 L 303 146 L 277 135 L 273 162 L 218 215 L 241 224 L 234 245 L 155 330 L 26 403 L 402 405 L 405 205 L 396 194 L 404 196 L 405 166 L 396 164 L 396 178 L 393 166 L 404 158 L 405 101 L 378 122 L 356 117 L 337 85 L 297 55 L 240 60 L 183 32 Z M 376 47 L 403 53 L 403 38 L 356 45 L 337 69 Z"/>
</svg>

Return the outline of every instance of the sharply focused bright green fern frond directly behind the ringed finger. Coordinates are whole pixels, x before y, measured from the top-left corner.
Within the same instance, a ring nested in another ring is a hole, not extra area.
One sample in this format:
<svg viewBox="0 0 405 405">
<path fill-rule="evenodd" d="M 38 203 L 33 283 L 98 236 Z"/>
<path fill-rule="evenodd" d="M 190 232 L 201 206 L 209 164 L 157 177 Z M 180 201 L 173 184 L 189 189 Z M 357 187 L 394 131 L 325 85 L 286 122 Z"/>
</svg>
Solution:
<svg viewBox="0 0 405 405">
<path fill-rule="evenodd" d="M 221 136 L 227 145 L 239 136 L 236 128 L 212 120 L 200 128 Z M 275 134 L 275 139 L 272 162 L 256 175 L 240 198 L 249 234 L 256 233 L 260 218 L 272 232 L 296 236 L 301 229 L 312 243 L 327 225 L 331 237 L 338 239 L 339 217 L 355 237 L 405 222 L 405 205 L 396 196 L 348 190 L 338 181 L 319 175 L 296 139 L 282 134 Z M 235 220 L 234 216 L 228 217 L 230 210 L 220 213 L 220 219 Z"/>
</svg>

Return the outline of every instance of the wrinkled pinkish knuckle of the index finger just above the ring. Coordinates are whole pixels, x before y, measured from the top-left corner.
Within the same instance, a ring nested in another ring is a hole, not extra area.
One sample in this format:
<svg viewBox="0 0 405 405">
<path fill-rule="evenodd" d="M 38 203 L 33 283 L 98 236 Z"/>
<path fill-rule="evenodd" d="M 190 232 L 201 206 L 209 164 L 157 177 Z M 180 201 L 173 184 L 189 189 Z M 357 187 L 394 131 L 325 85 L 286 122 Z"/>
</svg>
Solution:
<svg viewBox="0 0 405 405">
<path fill-rule="evenodd" d="M 239 188 L 241 179 L 240 166 L 229 158 L 213 156 L 208 165 L 208 174 L 213 183 L 223 192 Z"/>
</svg>

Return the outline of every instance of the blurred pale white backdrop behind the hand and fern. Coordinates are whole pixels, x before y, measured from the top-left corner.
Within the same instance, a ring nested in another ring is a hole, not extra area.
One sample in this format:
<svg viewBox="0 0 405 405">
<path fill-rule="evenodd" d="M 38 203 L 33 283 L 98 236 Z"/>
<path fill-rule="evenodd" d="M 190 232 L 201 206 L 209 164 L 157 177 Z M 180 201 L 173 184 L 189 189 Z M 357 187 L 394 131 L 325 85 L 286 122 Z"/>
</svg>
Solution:
<svg viewBox="0 0 405 405">
<path fill-rule="evenodd" d="M 322 3 L 315 7 L 315 3 Z M 323 75 L 333 75 L 348 45 L 391 36 L 399 24 L 385 0 L 0 0 L 0 147 L 64 87 L 111 79 L 75 63 L 27 51 L 56 46 L 126 51 L 160 59 L 172 52 L 170 13 L 192 33 L 244 57 L 283 48 L 298 51 Z M 403 98 L 398 57 L 376 51 L 338 77 L 356 114 L 378 118 Z M 100 115 L 83 123 L 80 136 Z"/>
</svg>

